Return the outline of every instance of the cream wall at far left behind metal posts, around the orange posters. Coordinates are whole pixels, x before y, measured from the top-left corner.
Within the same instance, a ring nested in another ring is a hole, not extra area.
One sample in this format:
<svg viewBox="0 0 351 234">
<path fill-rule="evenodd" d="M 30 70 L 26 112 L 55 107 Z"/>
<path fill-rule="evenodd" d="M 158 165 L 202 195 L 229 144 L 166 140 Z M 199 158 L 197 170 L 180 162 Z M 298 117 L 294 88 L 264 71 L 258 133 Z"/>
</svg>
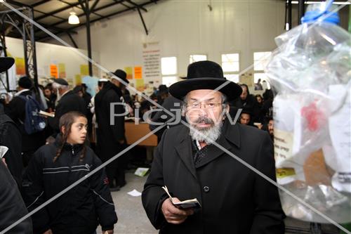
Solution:
<svg viewBox="0 0 351 234">
<path fill-rule="evenodd" d="M 24 58 L 22 39 L 6 37 L 6 47 L 13 58 Z M 79 51 L 86 55 L 87 51 L 83 49 L 77 50 L 66 46 L 36 42 L 36 51 L 39 78 L 50 77 L 51 64 L 64 63 L 66 77 L 68 80 L 72 79 L 74 84 L 74 76 L 81 73 L 80 65 L 88 64 L 85 58 L 76 53 Z M 100 53 L 93 51 L 93 57 L 97 63 L 100 62 Z"/>
</svg>

